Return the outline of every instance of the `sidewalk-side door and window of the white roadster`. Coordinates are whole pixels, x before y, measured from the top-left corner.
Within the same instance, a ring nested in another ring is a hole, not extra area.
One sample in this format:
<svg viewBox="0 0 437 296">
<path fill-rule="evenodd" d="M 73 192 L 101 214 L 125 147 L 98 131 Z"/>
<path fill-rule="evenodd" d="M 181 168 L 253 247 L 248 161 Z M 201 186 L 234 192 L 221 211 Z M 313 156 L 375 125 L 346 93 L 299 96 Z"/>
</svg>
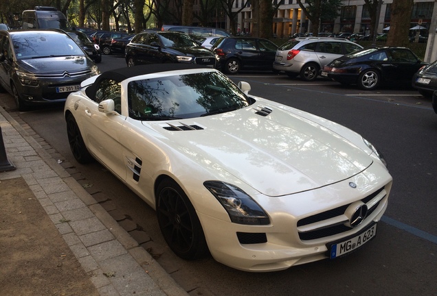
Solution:
<svg viewBox="0 0 437 296">
<path fill-rule="evenodd" d="M 117 114 L 105 114 L 98 105 L 105 99 L 113 99 Z M 111 79 L 99 82 L 96 95 L 89 100 L 80 100 L 83 106 L 79 112 L 82 136 L 87 148 L 115 175 L 124 180 L 126 170 L 122 160 L 120 134 L 126 116 L 122 115 L 121 86 Z"/>
</svg>

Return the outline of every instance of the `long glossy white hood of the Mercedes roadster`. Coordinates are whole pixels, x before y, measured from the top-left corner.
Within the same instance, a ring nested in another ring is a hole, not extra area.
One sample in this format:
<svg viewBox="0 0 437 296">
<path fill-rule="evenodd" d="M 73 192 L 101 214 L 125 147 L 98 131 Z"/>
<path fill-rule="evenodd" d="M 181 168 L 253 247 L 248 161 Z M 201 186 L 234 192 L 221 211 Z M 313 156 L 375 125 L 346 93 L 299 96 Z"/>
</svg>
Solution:
<svg viewBox="0 0 437 296">
<path fill-rule="evenodd" d="M 256 110 L 262 107 L 272 112 L 262 116 Z M 178 126 L 195 125 L 200 127 L 198 130 L 169 131 L 167 123 L 143 124 L 195 162 L 210 169 L 224 169 L 269 196 L 346 180 L 372 164 L 365 151 L 326 127 L 266 103 L 171 122 Z"/>
</svg>

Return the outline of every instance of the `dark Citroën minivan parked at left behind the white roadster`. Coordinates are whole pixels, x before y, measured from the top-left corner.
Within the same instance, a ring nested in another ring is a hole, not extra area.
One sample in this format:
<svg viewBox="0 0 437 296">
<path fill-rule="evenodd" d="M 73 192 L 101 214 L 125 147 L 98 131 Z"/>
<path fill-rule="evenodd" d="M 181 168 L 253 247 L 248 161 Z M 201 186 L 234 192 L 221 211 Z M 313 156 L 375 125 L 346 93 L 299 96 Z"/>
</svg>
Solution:
<svg viewBox="0 0 437 296">
<path fill-rule="evenodd" d="M 58 29 L 0 30 L 0 88 L 16 107 L 63 102 L 99 73 L 96 64 Z"/>
</svg>

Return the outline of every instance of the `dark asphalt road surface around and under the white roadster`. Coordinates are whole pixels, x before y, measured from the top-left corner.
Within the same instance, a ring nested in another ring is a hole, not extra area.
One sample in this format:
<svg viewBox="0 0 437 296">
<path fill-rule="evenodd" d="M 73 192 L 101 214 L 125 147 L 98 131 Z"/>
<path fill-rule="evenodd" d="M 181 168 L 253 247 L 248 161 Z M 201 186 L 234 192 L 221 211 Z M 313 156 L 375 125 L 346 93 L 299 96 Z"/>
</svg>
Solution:
<svg viewBox="0 0 437 296">
<path fill-rule="evenodd" d="M 104 56 L 99 68 L 124 66 Z M 236 271 L 205 258 L 186 262 L 168 250 L 155 212 L 100 164 L 77 164 L 67 143 L 62 106 L 21 112 L 89 184 L 109 198 L 151 241 L 144 247 L 191 295 L 436 295 L 437 114 L 411 88 L 363 92 L 326 80 L 301 82 L 286 75 L 242 73 L 251 95 L 299 108 L 359 132 L 382 151 L 394 186 L 377 237 L 344 258 L 274 273 Z M 0 102 L 16 112 L 12 97 Z"/>
</svg>

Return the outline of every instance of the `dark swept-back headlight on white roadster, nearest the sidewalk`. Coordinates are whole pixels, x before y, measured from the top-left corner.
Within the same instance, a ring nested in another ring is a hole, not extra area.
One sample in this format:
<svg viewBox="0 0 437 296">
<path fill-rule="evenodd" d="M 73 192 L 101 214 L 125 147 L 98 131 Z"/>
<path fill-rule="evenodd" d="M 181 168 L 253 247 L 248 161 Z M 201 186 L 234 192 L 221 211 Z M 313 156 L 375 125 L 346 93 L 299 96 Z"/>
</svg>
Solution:
<svg viewBox="0 0 437 296">
<path fill-rule="evenodd" d="M 268 225 L 269 217 L 243 190 L 220 181 L 203 183 L 225 208 L 233 223 L 245 225 Z"/>
</svg>

